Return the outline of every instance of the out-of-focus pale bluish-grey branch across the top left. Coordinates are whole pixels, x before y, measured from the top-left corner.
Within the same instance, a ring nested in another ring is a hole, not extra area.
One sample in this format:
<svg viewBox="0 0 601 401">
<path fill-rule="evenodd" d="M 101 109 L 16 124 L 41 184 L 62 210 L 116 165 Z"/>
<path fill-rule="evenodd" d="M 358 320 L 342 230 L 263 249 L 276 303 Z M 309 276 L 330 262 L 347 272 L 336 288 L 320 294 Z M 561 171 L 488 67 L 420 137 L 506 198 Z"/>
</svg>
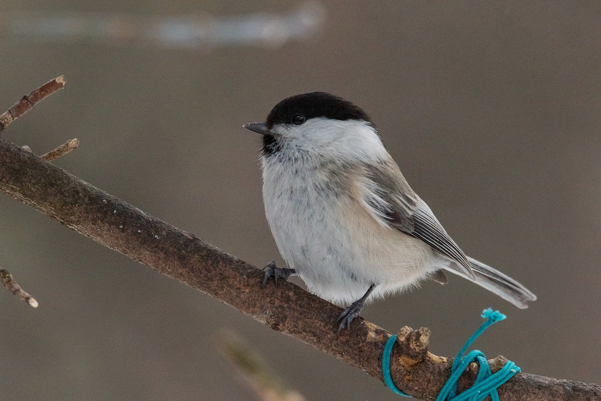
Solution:
<svg viewBox="0 0 601 401">
<path fill-rule="evenodd" d="M 325 7 L 313 1 L 304 2 L 283 15 L 258 13 L 236 17 L 10 11 L 0 16 L 0 37 L 3 40 L 32 42 L 97 42 L 186 48 L 228 44 L 280 46 L 314 34 L 324 17 Z"/>
</svg>

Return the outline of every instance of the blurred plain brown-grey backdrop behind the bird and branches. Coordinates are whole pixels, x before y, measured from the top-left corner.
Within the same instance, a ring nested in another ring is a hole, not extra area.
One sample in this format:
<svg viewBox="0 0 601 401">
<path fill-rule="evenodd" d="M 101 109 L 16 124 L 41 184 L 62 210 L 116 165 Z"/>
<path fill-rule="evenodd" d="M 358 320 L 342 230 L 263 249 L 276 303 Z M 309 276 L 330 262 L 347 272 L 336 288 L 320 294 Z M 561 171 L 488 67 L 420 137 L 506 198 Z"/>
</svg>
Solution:
<svg viewBox="0 0 601 401">
<path fill-rule="evenodd" d="M 260 138 L 284 97 L 328 91 L 367 110 L 407 180 L 471 256 L 538 295 L 518 310 L 459 277 L 366 307 L 522 370 L 601 382 L 601 4 L 531 1 L 7 0 L 2 111 L 66 88 L 4 137 L 262 267 Z M 398 400 L 376 379 L 0 196 L 0 399 L 257 399 L 215 338 L 246 338 L 310 400 Z M 299 280 L 295 282 L 301 283 Z M 257 283 L 258 285 L 258 283 Z M 335 330 L 332 325 L 332 330 Z"/>
</svg>

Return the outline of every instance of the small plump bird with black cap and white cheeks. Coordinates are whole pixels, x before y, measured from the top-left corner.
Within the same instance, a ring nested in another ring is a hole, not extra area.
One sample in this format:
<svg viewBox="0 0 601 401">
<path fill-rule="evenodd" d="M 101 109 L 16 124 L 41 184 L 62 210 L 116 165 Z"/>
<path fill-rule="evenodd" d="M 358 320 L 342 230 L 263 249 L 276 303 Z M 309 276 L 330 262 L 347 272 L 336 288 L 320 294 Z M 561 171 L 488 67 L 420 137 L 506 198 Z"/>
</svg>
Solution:
<svg viewBox="0 0 601 401">
<path fill-rule="evenodd" d="M 373 122 L 355 104 L 325 92 L 285 98 L 264 123 L 261 167 L 267 222 L 288 267 L 270 277 L 300 276 L 320 298 L 348 306 L 338 332 L 367 301 L 415 287 L 445 284 L 445 271 L 520 309 L 536 296 L 475 259 L 449 237 L 407 184 Z"/>
</svg>

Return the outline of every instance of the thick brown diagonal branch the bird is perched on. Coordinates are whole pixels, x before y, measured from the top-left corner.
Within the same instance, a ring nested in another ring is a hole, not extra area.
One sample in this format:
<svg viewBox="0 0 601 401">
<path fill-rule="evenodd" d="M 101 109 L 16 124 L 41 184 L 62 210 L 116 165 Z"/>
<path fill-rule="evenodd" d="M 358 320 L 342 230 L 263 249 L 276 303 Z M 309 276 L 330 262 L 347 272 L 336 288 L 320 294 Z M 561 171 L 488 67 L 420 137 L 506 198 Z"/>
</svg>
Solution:
<svg viewBox="0 0 601 401">
<path fill-rule="evenodd" d="M 351 330 L 337 337 L 334 322 L 340 307 L 289 282 L 261 289 L 263 273 L 254 266 L 4 139 L 0 139 L 0 190 L 79 234 L 383 381 L 382 351 L 391 336 L 388 331 L 358 318 Z M 391 376 L 406 393 L 434 400 L 450 376 L 451 361 L 427 351 L 428 337 L 427 330 L 401 330 L 392 350 Z M 474 366 L 462 375 L 460 391 L 471 387 L 476 373 Z M 499 388 L 499 395 L 504 401 L 584 401 L 601 399 L 601 386 L 520 372 Z"/>
</svg>

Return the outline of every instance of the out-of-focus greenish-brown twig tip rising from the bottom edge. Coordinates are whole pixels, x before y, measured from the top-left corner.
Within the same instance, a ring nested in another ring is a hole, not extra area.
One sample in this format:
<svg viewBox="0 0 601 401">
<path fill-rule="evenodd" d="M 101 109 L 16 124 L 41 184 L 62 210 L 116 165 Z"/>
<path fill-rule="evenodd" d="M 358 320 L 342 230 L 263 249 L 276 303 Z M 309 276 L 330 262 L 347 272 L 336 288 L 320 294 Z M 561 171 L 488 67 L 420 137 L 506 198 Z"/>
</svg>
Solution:
<svg viewBox="0 0 601 401">
<path fill-rule="evenodd" d="M 219 336 L 219 348 L 243 373 L 246 382 L 263 401 L 305 401 L 300 393 L 288 388 L 257 352 L 233 333 Z"/>
</svg>

